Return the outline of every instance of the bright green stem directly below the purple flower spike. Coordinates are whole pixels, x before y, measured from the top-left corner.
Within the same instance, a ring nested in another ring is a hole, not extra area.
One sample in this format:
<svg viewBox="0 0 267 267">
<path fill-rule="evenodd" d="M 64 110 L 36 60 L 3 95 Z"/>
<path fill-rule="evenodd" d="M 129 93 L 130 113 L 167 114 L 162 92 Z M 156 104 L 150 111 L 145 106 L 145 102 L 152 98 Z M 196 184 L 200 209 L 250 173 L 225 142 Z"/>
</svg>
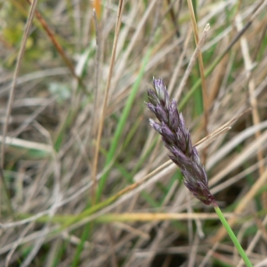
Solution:
<svg viewBox="0 0 267 267">
<path fill-rule="evenodd" d="M 239 240 L 235 236 L 234 232 L 231 230 L 230 225 L 225 220 L 220 207 L 216 203 L 213 203 L 213 205 L 214 205 L 214 210 L 215 210 L 216 214 L 218 214 L 218 217 L 220 218 L 221 222 L 223 223 L 225 230 L 228 232 L 229 236 L 231 237 L 231 240 L 234 243 L 235 247 L 237 247 L 237 249 L 239 251 L 239 255 L 242 257 L 243 261 L 246 263 L 247 266 L 253 267 L 252 263 L 250 263 L 250 261 L 247 257 L 246 252 L 241 247 Z"/>
</svg>

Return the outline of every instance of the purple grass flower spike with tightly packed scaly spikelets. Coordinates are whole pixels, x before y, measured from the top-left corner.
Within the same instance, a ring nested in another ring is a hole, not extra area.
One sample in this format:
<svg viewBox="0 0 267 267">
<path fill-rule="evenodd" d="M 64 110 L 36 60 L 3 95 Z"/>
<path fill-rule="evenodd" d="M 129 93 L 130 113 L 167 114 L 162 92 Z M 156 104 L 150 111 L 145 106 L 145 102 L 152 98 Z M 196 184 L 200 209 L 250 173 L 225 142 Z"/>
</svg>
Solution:
<svg viewBox="0 0 267 267">
<path fill-rule="evenodd" d="M 206 205 L 215 202 L 208 188 L 204 166 L 198 150 L 192 146 L 190 133 L 184 124 L 182 113 L 177 110 L 175 100 L 170 101 L 162 79 L 153 80 L 155 90 L 149 89 L 148 108 L 158 117 L 159 123 L 150 118 L 150 125 L 162 136 L 169 157 L 180 167 L 183 182 L 190 192 Z"/>
</svg>

